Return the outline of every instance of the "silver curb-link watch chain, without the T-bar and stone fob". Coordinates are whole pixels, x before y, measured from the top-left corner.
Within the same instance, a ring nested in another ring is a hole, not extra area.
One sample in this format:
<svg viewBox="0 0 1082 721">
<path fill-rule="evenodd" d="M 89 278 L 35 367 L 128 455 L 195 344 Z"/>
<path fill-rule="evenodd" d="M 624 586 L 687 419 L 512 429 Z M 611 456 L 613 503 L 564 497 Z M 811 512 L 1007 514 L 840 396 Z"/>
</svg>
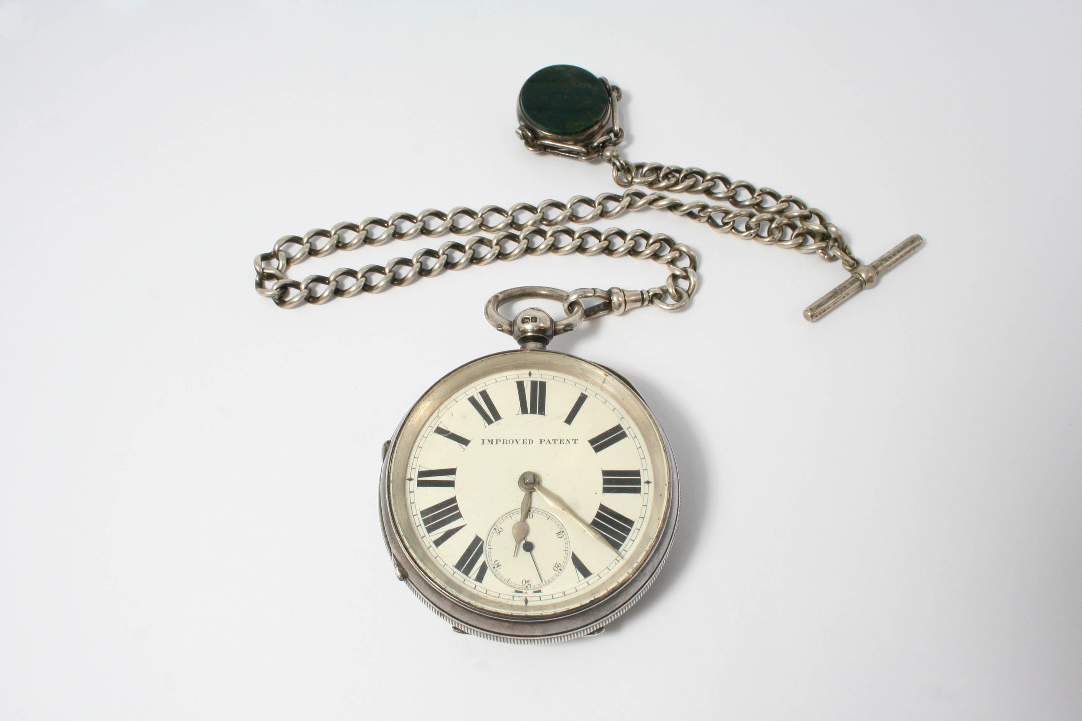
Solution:
<svg viewBox="0 0 1082 721">
<path fill-rule="evenodd" d="M 339 223 L 330 230 L 315 228 L 304 236 L 282 236 L 273 250 L 255 256 L 255 291 L 281 308 L 294 308 L 303 303 L 322 305 L 337 297 L 379 293 L 392 285 L 407 285 L 418 278 L 438 276 L 445 270 L 514 261 L 523 255 L 630 255 L 665 266 L 669 276 L 664 284 L 642 293 L 655 307 L 677 310 L 687 304 L 698 286 L 698 264 L 691 249 L 664 233 L 620 228 L 598 230 L 584 225 L 648 209 L 668 210 L 704 223 L 718 232 L 792 248 L 799 253 L 815 253 L 827 262 L 841 259 L 850 270 L 858 265 L 837 227 L 828 222 L 821 211 L 808 208 L 794 196 L 756 188 L 745 181 L 733 182 L 722 173 L 707 173 L 698 168 L 629 163 L 611 145 L 606 146 L 602 155 L 612 165 L 612 178 L 626 188 L 623 193 L 603 192 L 596 198 L 575 196 L 566 203 L 556 200 L 544 200 L 538 205 L 516 203 L 507 210 L 498 205 L 485 205 L 478 211 L 459 206 L 447 213 L 427 209 L 417 215 L 395 213 L 386 219 L 368 217 L 359 224 Z M 632 186 L 645 186 L 652 192 Z M 660 190 L 703 195 L 715 203 L 701 200 L 684 203 Z M 584 227 L 572 230 L 567 224 Z M 438 249 L 424 248 L 412 257 L 393 258 L 382 266 L 338 268 L 329 276 L 314 275 L 304 280 L 288 276 L 291 266 L 340 250 L 383 245 L 418 236 L 469 236 L 478 231 L 489 236 L 473 235 L 464 242 L 448 240 Z M 620 289 L 610 291 L 619 292 L 622 297 Z M 609 291 L 580 289 L 575 293 L 575 301 L 593 297 L 602 302 L 603 307 L 591 317 L 613 311 Z"/>
</svg>

